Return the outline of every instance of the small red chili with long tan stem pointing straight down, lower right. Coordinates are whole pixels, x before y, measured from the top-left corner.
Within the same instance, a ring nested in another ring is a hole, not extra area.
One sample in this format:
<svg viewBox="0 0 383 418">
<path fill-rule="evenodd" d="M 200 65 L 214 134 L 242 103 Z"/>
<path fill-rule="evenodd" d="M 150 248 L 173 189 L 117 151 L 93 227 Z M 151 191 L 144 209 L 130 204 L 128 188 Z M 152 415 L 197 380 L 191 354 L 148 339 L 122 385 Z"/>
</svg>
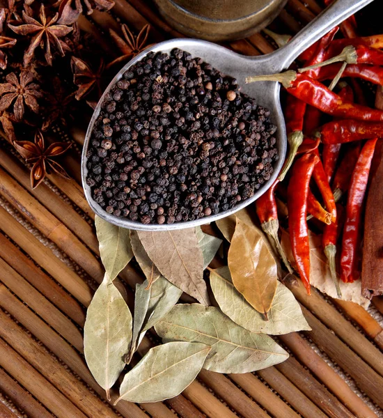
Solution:
<svg viewBox="0 0 383 418">
<path fill-rule="evenodd" d="M 334 281 L 336 293 L 338 297 L 342 297 L 341 288 L 339 287 L 338 277 L 336 274 L 336 242 L 338 241 L 339 235 L 341 235 L 341 229 L 344 222 L 344 209 L 341 205 L 336 205 L 336 221 L 326 225 L 323 229 L 322 235 L 322 246 L 325 251 L 325 256 L 329 261 L 329 268 L 331 277 Z"/>
</svg>

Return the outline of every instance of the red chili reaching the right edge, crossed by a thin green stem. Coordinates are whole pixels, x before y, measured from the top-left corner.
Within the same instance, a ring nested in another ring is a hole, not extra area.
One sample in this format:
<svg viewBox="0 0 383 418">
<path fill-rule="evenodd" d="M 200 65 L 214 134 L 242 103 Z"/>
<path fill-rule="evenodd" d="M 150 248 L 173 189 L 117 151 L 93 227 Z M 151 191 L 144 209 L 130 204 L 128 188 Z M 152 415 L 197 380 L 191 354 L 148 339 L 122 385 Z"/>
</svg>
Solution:
<svg viewBox="0 0 383 418">
<path fill-rule="evenodd" d="M 341 69 L 341 64 L 331 64 L 320 68 L 318 75 L 314 78 L 322 82 L 333 79 Z M 383 86 L 383 68 L 378 65 L 351 64 L 347 65 L 342 77 L 352 77 L 364 79 L 373 84 Z"/>
</svg>

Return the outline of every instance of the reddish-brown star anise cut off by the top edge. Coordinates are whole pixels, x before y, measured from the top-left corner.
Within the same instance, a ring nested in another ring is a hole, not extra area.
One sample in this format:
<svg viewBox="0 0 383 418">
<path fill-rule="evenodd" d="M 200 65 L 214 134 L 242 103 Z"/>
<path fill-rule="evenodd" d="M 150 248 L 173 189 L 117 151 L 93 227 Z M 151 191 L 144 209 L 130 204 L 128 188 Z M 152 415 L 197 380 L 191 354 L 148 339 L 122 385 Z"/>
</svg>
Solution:
<svg viewBox="0 0 383 418">
<path fill-rule="evenodd" d="M 84 8 L 83 8 L 84 3 Z M 110 10 L 114 6 L 112 0 L 58 0 L 55 6 L 59 6 L 58 14 L 60 19 L 58 23 L 61 24 L 72 24 L 77 21 L 79 15 L 86 10 L 87 15 L 91 15 L 93 10 Z"/>
</svg>

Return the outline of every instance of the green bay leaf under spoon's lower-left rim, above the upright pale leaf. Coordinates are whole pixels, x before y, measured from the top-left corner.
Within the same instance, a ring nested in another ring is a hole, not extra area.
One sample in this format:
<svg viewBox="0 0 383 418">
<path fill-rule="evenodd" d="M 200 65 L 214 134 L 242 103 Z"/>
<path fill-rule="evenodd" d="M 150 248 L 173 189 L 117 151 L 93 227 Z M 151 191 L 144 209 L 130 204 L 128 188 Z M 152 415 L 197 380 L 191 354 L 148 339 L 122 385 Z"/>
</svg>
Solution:
<svg viewBox="0 0 383 418">
<path fill-rule="evenodd" d="M 132 260 L 129 229 L 110 224 L 95 215 L 95 228 L 100 247 L 100 257 L 111 280 Z"/>
</svg>

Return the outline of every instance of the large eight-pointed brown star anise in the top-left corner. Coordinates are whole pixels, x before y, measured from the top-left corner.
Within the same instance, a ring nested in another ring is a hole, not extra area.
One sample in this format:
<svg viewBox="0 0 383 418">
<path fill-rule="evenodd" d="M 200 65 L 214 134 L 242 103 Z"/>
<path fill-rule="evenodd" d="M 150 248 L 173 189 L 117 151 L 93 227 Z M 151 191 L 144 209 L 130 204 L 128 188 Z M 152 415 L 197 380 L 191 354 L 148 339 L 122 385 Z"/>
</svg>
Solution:
<svg viewBox="0 0 383 418">
<path fill-rule="evenodd" d="M 38 20 L 34 19 L 33 17 L 29 16 L 27 13 L 25 13 L 25 11 L 23 11 L 22 13 L 22 18 L 24 24 L 20 24 L 19 26 L 8 24 L 8 26 L 18 35 L 33 35 L 33 38 L 31 39 L 31 44 L 24 53 L 25 67 L 27 67 L 29 63 L 32 61 L 33 54 L 38 45 L 40 45 L 40 47 L 42 48 L 45 47 L 45 59 L 49 65 L 52 65 L 51 44 L 57 49 L 61 56 L 65 55 L 63 46 L 58 38 L 68 35 L 68 33 L 72 31 L 72 28 L 63 24 L 56 24 L 56 21 L 58 20 L 58 13 L 56 13 L 56 15 L 54 15 L 54 17 L 52 17 L 51 19 L 47 20 L 47 17 L 45 15 L 45 6 L 44 4 L 42 4 L 40 7 L 39 15 L 40 22 L 38 22 Z"/>
</svg>

